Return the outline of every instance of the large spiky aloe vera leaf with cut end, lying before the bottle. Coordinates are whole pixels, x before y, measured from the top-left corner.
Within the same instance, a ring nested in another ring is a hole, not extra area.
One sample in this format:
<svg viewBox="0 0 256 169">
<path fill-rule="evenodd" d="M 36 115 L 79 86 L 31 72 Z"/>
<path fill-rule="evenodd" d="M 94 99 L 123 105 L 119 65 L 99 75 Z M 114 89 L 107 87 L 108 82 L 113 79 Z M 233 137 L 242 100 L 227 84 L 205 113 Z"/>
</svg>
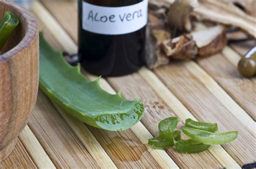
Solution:
<svg viewBox="0 0 256 169">
<path fill-rule="evenodd" d="M 120 131 L 131 128 L 144 115 L 141 101 L 111 95 L 96 81 L 87 80 L 80 66 L 72 67 L 53 51 L 40 33 L 40 89 L 60 108 L 96 128 Z"/>
</svg>

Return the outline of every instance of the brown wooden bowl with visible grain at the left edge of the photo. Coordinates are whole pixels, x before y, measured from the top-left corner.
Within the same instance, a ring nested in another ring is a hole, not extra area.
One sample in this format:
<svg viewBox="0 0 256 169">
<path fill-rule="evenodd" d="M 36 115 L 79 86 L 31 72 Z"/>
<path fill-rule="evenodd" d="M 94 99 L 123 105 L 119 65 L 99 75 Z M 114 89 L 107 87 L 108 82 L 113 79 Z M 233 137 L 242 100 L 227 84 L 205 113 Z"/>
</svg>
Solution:
<svg viewBox="0 0 256 169">
<path fill-rule="evenodd" d="M 5 11 L 19 17 L 19 25 L 0 51 L 0 162 L 14 149 L 35 107 L 39 77 L 39 42 L 35 17 L 22 6 L 0 0 Z"/>
</svg>

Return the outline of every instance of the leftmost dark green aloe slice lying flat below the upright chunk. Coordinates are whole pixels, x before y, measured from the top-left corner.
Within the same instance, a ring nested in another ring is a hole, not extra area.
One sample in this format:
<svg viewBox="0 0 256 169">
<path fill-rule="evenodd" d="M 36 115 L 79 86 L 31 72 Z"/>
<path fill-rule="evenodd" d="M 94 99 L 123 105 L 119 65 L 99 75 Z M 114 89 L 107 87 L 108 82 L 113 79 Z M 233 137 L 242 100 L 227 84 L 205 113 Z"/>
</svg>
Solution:
<svg viewBox="0 0 256 169">
<path fill-rule="evenodd" d="M 180 139 L 181 139 L 181 133 L 180 131 L 176 130 L 176 131 L 173 131 L 171 138 L 154 137 L 149 139 L 148 144 L 151 145 L 153 149 L 164 150 L 167 147 L 174 146 L 173 140 L 178 141 Z"/>
</svg>

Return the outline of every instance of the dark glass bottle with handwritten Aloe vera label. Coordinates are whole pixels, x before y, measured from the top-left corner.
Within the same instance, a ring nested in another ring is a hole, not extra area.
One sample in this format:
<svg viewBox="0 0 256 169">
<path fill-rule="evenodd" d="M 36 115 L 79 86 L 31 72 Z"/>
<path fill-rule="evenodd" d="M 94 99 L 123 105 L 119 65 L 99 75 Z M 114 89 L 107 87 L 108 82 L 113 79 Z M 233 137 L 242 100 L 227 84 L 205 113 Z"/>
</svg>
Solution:
<svg viewBox="0 0 256 169">
<path fill-rule="evenodd" d="M 79 0 L 79 59 L 86 71 L 120 76 L 144 65 L 147 0 Z"/>
</svg>

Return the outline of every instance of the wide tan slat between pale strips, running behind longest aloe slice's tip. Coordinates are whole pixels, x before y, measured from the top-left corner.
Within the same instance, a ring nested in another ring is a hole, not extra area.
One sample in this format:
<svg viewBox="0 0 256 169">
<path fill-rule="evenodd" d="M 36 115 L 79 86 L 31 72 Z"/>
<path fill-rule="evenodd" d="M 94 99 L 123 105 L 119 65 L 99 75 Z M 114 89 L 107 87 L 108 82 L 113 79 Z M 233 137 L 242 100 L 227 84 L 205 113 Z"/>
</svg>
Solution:
<svg viewBox="0 0 256 169">
<path fill-rule="evenodd" d="M 223 147 L 239 165 L 251 163 L 254 158 L 255 137 L 190 71 L 178 62 L 154 70 L 160 80 L 198 120 L 218 123 L 220 132 L 239 131 L 238 138 Z M 207 77 L 205 79 L 207 80 Z"/>
</svg>

